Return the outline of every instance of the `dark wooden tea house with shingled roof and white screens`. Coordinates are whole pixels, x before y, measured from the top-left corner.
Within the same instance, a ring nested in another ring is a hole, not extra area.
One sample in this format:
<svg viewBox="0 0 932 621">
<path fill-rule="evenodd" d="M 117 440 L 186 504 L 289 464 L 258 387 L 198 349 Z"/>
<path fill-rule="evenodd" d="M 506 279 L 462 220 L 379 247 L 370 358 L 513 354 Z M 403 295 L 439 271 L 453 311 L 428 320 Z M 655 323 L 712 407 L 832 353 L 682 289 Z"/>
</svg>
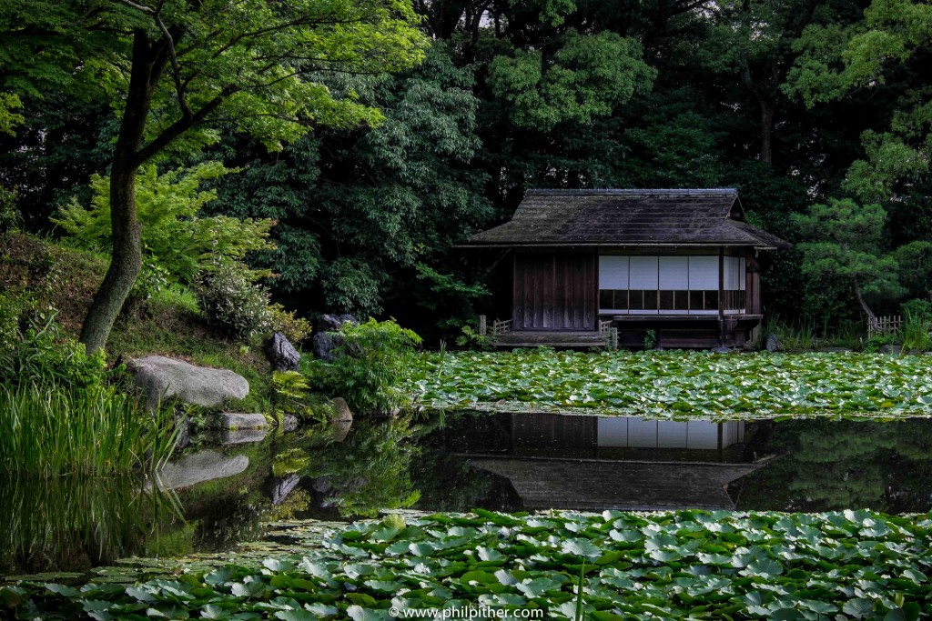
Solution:
<svg viewBox="0 0 932 621">
<path fill-rule="evenodd" d="M 715 347 L 744 344 L 761 323 L 761 271 L 789 244 L 748 224 L 724 188 L 530 190 L 468 247 L 511 266 L 511 317 L 489 326 L 501 346 L 617 334 L 624 346 Z"/>
</svg>

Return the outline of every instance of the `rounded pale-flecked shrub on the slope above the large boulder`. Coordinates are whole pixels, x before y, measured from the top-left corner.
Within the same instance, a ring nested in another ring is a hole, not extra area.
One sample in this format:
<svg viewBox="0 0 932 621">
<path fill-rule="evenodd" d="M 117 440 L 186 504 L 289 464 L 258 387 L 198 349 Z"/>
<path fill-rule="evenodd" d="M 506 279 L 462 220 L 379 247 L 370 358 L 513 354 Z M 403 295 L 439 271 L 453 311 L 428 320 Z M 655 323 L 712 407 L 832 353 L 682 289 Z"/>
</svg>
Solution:
<svg viewBox="0 0 932 621">
<path fill-rule="evenodd" d="M 272 329 L 268 290 L 239 262 L 221 261 L 195 287 L 201 311 L 217 331 L 248 339 Z"/>
</svg>

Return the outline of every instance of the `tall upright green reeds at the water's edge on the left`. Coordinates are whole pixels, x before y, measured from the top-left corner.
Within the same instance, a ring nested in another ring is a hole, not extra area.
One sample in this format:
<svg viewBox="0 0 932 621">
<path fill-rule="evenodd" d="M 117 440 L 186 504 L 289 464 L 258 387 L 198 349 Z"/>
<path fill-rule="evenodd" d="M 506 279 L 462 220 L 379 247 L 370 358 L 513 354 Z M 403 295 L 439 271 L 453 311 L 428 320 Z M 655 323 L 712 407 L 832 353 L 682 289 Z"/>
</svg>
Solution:
<svg viewBox="0 0 932 621">
<path fill-rule="evenodd" d="M 105 385 L 0 387 L 0 473 L 93 477 L 150 470 L 171 455 L 171 412 L 144 412 Z"/>
</svg>

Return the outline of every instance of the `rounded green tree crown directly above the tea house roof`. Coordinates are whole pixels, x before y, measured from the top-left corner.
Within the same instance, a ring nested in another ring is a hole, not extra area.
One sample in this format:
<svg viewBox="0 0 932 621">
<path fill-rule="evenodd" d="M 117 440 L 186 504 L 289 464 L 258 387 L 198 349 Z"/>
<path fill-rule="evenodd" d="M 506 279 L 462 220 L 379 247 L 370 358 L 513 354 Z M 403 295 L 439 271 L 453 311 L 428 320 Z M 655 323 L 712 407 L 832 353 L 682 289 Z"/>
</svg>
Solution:
<svg viewBox="0 0 932 621">
<path fill-rule="evenodd" d="M 562 44 L 546 59 L 540 50 L 515 49 L 513 57 L 489 63 L 488 84 L 511 105 L 515 127 L 550 131 L 564 122 L 590 123 L 649 90 L 656 76 L 634 39 L 570 28 Z"/>
</svg>

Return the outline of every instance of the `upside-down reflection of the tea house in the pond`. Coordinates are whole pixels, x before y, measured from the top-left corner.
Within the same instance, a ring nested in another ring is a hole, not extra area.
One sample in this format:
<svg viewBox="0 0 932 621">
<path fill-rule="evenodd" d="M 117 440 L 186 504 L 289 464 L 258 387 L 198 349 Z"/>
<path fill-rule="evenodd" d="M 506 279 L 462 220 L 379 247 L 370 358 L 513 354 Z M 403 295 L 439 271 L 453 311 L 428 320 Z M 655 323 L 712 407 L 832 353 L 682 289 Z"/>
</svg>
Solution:
<svg viewBox="0 0 932 621">
<path fill-rule="evenodd" d="M 495 419 L 498 433 L 473 436 L 460 454 L 509 479 L 527 509 L 733 509 L 729 485 L 768 461 L 747 454 L 743 421 Z"/>
</svg>

